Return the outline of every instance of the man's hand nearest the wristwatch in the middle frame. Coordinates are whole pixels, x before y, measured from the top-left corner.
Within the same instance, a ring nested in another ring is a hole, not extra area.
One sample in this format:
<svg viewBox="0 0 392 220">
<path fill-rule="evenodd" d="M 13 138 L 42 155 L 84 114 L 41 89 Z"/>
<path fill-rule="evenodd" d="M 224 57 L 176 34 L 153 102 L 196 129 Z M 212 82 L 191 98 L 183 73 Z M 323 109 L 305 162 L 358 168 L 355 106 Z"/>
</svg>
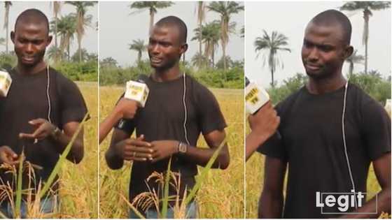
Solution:
<svg viewBox="0 0 392 220">
<path fill-rule="evenodd" d="M 151 144 L 153 145 L 152 149 L 154 150 L 153 163 L 178 152 L 178 140 L 156 140 L 151 142 Z"/>
</svg>

